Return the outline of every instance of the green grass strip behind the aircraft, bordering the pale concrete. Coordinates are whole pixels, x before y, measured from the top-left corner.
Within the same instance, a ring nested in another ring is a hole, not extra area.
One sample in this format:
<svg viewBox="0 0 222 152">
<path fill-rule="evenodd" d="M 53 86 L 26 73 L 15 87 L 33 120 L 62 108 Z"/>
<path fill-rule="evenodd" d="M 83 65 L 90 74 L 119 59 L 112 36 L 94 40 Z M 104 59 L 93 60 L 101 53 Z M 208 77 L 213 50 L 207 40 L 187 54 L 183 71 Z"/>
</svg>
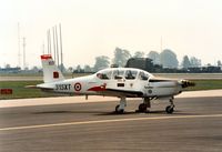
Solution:
<svg viewBox="0 0 222 152">
<path fill-rule="evenodd" d="M 222 89 L 222 80 L 193 80 L 195 87 L 186 89 L 186 91 L 213 90 Z M 0 94 L 3 99 L 21 99 L 21 98 L 44 98 L 58 97 L 58 94 L 41 92 L 38 89 L 27 89 L 26 85 L 36 85 L 42 81 L 1 81 L 0 89 L 12 89 L 12 94 Z"/>
</svg>

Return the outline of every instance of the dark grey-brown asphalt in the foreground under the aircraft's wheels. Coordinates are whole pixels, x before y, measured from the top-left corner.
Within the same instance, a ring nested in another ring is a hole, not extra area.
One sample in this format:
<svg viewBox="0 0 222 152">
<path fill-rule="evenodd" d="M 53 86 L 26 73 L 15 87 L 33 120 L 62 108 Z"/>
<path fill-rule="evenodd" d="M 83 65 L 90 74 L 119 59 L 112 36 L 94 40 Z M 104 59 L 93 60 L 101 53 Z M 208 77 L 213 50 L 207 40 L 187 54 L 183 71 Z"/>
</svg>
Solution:
<svg viewBox="0 0 222 152">
<path fill-rule="evenodd" d="M 222 97 L 178 98 L 173 114 L 168 101 L 135 113 L 140 102 L 121 115 L 118 101 L 1 108 L 0 151 L 222 151 Z"/>
</svg>

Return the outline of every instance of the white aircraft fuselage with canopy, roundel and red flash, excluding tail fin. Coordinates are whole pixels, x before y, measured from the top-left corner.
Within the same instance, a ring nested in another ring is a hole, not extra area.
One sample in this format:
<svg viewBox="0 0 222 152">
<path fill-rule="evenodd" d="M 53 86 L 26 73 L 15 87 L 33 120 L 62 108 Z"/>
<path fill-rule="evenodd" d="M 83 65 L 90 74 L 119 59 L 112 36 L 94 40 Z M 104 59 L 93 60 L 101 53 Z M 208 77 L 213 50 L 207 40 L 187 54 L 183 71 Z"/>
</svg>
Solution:
<svg viewBox="0 0 222 152">
<path fill-rule="evenodd" d="M 173 97 L 182 91 L 178 80 L 157 79 L 147 71 L 133 68 L 108 68 L 91 75 L 42 83 L 37 87 L 43 91 L 71 95 L 128 98 Z"/>
</svg>

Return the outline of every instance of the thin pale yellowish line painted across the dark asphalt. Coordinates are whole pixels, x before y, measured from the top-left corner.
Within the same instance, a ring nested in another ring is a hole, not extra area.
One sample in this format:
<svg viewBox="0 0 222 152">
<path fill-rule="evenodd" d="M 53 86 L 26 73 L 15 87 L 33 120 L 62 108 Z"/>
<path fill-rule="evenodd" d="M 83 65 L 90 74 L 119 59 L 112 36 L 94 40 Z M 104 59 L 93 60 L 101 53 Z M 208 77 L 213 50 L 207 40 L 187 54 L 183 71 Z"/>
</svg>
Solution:
<svg viewBox="0 0 222 152">
<path fill-rule="evenodd" d="M 132 118 L 132 119 L 113 119 L 113 120 L 79 121 L 79 122 L 67 122 L 67 123 L 52 123 L 52 124 L 39 124 L 39 125 L 2 128 L 2 129 L 0 129 L 0 131 L 13 131 L 13 130 L 26 130 L 26 129 L 40 129 L 40 128 L 65 126 L 65 125 L 80 125 L 80 124 L 95 124 L 95 123 L 109 123 L 109 122 L 127 122 L 127 121 L 140 121 L 140 120 L 167 120 L 167 119 L 192 119 L 192 118 L 222 118 L 222 114 L 209 114 L 209 115 L 176 115 L 176 116 L 172 116 L 172 115 L 171 115 L 171 116 L 155 116 L 155 118 Z"/>
</svg>

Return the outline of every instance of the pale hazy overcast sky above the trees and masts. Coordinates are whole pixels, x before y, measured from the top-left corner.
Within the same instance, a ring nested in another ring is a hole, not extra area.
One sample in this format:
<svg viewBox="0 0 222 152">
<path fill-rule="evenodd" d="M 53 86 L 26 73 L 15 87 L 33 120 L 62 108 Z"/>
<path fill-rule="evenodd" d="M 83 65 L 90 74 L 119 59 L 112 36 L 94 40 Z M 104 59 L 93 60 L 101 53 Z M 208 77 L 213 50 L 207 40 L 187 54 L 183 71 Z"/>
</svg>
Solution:
<svg viewBox="0 0 222 152">
<path fill-rule="evenodd" d="M 0 67 L 23 67 L 23 38 L 26 64 L 41 67 L 47 31 L 59 23 L 65 67 L 112 59 L 117 47 L 132 54 L 171 49 L 179 61 L 188 54 L 215 64 L 222 60 L 221 14 L 221 0 L 0 0 Z"/>
</svg>

